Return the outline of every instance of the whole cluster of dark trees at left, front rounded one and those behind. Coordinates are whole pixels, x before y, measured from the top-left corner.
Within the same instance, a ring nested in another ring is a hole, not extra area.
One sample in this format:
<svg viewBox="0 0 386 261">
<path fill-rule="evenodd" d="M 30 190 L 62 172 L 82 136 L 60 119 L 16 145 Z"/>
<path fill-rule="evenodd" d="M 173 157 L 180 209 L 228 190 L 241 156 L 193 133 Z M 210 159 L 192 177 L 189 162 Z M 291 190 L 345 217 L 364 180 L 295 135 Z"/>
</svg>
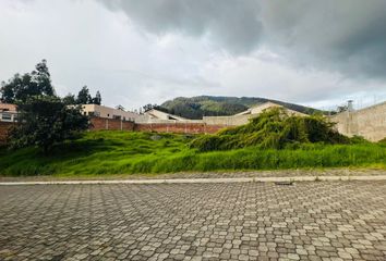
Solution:
<svg viewBox="0 0 386 261">
<path fill-rule="evenodd" d="M 81 104 L 100 104 L 97 91 L 93 98 L 87 86 L 77 96 L 60 98 L 51 83 L 47 61 L 35 70 L 15 74 L 1 83 L 0 101 L 17 105 L 17 124 L 10 130 L 9 148 L 39 147 L 47 154 L 56 144 L 76 137 L 89 127 L 89 119 L 81 113 Z"/>
</svg>

